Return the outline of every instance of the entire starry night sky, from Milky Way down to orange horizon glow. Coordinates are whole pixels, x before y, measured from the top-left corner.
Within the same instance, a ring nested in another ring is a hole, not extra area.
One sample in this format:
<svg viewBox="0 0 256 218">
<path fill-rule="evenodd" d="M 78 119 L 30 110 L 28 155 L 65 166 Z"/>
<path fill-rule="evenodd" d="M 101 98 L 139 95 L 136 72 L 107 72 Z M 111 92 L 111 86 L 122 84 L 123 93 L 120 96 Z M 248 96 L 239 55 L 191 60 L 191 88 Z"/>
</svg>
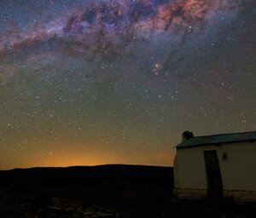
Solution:
<svg viewBox="0 0 256 218">
<path fill-rule="evenodd" d="M 255 0 L 0 1 L 0 169 L 172 166 L 256 130 Z"/>
</svg>

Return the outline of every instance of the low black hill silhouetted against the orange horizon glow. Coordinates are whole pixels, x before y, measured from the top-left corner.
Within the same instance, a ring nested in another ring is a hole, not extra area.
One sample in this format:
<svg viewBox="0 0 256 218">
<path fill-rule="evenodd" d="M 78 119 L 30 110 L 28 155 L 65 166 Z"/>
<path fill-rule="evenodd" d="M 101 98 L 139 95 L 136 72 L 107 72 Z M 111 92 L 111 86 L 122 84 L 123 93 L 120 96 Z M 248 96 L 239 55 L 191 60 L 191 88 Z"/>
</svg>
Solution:
<svg viewBox="0 0 256 218">
<path fill-rule="evenodd" d="M 138 165 L 76 166 L 68 168 L 32 168 L 0 170 L 0 186 L 55 187 L 109 186 L 126 184 L 131 187 L 173 187 L 171 167 Z M 0 188 L 1 188 L 0 187 Z"/>
</svg>

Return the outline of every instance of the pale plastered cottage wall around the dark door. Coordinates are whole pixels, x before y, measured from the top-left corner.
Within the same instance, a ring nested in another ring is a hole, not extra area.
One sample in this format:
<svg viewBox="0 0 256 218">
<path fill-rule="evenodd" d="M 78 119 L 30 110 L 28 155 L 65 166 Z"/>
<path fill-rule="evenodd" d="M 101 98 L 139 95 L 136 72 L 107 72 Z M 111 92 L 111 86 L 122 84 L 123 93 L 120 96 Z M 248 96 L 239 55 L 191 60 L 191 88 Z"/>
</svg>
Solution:
<svg viewBox="0 0 256 218">
<path fill-rule="evenodd" d="M 216 150 L 222 175 L 224 194 L 255 192 L 256 199 L 256 142 L 237 142 L 219 146 L 195 146 L 177 149 L 174 160 L 174 182 L 177 190 L 205 190 L 207 175 L 204 151 Z M 223 153 L 227 159 L 223 159 Z M 226 191 L 226 192 L 225 192 Z M 244 194 L 242 194 L 244 195 Z"/>
</svg>

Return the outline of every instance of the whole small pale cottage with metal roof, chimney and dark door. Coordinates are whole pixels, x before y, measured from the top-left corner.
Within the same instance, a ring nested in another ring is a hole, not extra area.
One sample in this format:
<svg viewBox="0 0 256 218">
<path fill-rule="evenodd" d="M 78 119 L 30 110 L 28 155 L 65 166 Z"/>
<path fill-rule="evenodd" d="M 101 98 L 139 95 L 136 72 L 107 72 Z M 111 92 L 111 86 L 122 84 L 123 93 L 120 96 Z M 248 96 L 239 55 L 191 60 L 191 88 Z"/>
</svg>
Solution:
<svg viewBox="0 0 256 218">
<path fill-rule="evenodd" d="M 178 198 L 256 202 L 256 131 L 196 137 L 186 131 L 176 149 Z"/>
</svg>

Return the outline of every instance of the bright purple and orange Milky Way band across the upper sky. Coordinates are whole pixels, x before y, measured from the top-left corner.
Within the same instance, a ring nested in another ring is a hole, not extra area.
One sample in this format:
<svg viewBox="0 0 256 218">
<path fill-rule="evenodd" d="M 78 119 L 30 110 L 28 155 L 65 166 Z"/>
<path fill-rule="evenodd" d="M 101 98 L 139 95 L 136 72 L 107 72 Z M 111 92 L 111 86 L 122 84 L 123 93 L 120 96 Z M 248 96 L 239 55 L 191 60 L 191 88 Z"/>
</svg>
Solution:
<svg viewBox="0 0 256 218">
<path fill-rule="evenodd" d="M 26 43 L 63 40 L 73 50 L 88 51 L 89 58 L 118 54 L 135 38 L 153 34 L 189 34 L 204 29 L 216 11 L 236 10 L 229 0 L 97 1 L 39 21 L 25 31 L 11 30 L 0 37 L 0 52 L 19 49 Z M 29 26 L 28 24 L 27 26 Z M 170 36 L 172 37 L 172 35 Z"/>
</svg>

